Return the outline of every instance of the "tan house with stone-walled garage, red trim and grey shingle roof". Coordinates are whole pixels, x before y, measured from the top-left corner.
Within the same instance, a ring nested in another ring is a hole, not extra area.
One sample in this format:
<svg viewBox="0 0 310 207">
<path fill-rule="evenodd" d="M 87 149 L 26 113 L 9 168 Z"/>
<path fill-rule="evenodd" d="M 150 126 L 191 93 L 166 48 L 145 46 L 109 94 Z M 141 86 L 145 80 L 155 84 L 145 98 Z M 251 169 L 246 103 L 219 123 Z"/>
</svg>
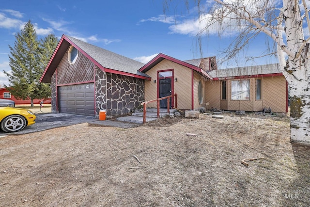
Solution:
<svg viewBox="0 0 310 207">
<path fill-rule="evenodd" d="M 100 110 L 106 110 L 107 115 L 127 114 L 140 108 L 143 101 L 170 94 L 177 94 L 177 107 L 182 110 L 199 109 L 209 103 L 209 108 L 262 111 L 263 107 L 274 106 L 269 104 L 269 90 L 282 92 L 282 88 L 270 87 L 273 80 L 277 80 L 279 87 L 284 85 L 287 92 L 279 71 L 271 75 L 259 70 L 249 71 L 249 75 L 238 71 L 232 75 L 230 71 L 217 70 L 215 57 L 180 61 L 160 53 L 142 64 L 62 35 L 40 81 L 51 83 L 53 112 L 90 116 L 97 116 Z M 256 80 L 261 84 L 261 93 L 253 101 Z M 284 101 L 285 105 L 287 95 L 278 94 L 279 99 L 274 102 Z M 174 107 L 173 98 L 170 103 Z M 167 100 L 160 101 L 160 107 L 167 107 Z M 287 108 L 275 109 L 285 112 Z"/>
</svg>

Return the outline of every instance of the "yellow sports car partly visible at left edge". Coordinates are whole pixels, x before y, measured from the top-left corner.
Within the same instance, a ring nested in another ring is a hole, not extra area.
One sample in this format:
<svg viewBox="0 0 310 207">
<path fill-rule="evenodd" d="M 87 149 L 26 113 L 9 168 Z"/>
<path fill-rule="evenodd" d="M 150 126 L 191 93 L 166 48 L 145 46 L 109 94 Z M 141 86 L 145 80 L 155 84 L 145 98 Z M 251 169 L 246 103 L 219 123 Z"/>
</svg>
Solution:
<svg viewBox="0 0 310 207">
<path fill-rule="evenodd" d="M 4 132 L 20 131 L 35 123 L 35 115 L 27 109 L 0 107 L 0 128 Z"/>
</svg>

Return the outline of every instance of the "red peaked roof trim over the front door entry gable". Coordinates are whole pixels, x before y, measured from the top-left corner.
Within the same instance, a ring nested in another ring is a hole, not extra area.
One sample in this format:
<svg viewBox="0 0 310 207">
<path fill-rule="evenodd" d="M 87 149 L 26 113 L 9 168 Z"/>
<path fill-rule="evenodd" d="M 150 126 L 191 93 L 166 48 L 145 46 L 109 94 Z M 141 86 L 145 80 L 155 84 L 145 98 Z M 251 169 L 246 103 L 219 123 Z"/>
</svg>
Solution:
<svg viewBox="0 0 310 207">
<path fill-rule="evenodd" d="M 184 62 L 184 61 L 180 61 L 180 60 L 178 60 L 178 59 L 172 58 L 172 57 L 170 57 L 170 56 L 168 56 L 168 55 L 165 55 L 165 54 L 163 54 L 163 53 L 159 53 L 159 54 L 158 54 L 155 58 L 153 58 L 150 62 L 148 62 L 147 64 L 145 64 L 143 67 L 141 67 L 141 68 L 139 69 L 139 71 L 143 73 L 144 70 L 146 70 L 148 67 L 150 67 L 152 64 L 154 64 L 154 63 L 155 63 L 157 60 L 159 60 L 159 59 L 167 59 L 167 60 L 172 61 L 172 62 L 174 62 L 174 63 L 181 64 L 181 65 L 186 66 L 186 67 L 188 67 L 188 68 L 190 68 L 190 69 L 192 69 L 192 70 L 196 70 L 197 72 L 202 73 L 202 74 L 205 75 L 206 77 L 212 79 L 212 77 L 211 77 L 208 73 L 206 73 L 204 70 L 202 70 L 202 68 L 197 67 L 197 66 L 192 65 L 192 64 L 188 64 L 188 63 L 186 63 L 186 62 Z"/>
</svg>

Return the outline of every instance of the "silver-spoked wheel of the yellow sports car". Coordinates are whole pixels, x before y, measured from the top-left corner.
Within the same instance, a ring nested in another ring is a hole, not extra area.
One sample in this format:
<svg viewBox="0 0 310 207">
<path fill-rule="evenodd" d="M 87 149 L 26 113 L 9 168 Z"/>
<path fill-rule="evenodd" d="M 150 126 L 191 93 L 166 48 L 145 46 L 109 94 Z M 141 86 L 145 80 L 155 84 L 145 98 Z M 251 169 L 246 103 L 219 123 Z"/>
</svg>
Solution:
<svg viewBox="0 0 310 207">
<path fill-rule="evenodd" d="M 11 115 L 1 122 L 1 129 L 4 132 L 16 132 L 22 130 L 26 126 L 26 119 L 21 115 Z"/>
</svg>

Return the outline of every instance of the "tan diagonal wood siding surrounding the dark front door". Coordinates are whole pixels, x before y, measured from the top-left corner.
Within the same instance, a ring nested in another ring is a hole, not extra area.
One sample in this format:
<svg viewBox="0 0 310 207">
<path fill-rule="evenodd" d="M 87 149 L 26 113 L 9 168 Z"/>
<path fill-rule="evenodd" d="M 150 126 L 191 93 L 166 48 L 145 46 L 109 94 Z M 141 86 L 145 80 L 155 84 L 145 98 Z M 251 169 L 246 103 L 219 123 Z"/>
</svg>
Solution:
<svg viewBox="0 0 310 207">
<path fill-rule="evenodd" d="M 178 96 L 178 108 L 191 109 L 191 69 L 166 59 L 146 72 L 152 80 L 145 81 L 145 101 L 157 98 L 157 71 L 168 69 L 174 69 L 173 79 L 177 78 L 177 81 L 172 80 L 172 84 L 174 87 L 174 93 Z M 156 80 L 156 83 L 154 83 L 154 80 Z M 147 107 L 155 108 L 156 103 L 150 103 Z"/>
</svg>

